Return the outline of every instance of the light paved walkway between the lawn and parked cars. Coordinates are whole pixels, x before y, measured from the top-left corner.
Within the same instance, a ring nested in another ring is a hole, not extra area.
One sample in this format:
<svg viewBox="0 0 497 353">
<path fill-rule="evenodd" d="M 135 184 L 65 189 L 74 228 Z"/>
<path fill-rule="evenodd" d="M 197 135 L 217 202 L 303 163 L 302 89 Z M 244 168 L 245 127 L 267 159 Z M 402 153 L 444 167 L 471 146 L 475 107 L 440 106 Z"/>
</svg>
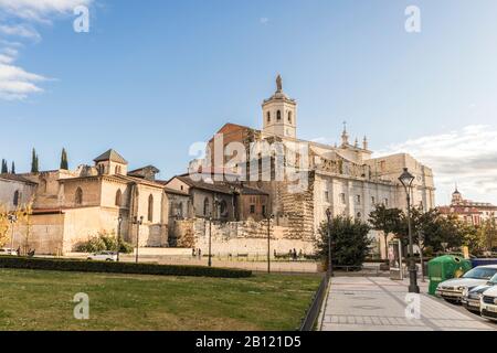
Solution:
<svg viewBox="0 0 497 353">
<path fill-rule="evenodd" d="M 421 284 L 427 292 L 427 284 Z M 322 331 L 497 331 L 497 324 L 462 307 L 421 295 L 419 318 L 409 319 L 406 281 L 336 277 L 321 315 Z"/>
</svg>

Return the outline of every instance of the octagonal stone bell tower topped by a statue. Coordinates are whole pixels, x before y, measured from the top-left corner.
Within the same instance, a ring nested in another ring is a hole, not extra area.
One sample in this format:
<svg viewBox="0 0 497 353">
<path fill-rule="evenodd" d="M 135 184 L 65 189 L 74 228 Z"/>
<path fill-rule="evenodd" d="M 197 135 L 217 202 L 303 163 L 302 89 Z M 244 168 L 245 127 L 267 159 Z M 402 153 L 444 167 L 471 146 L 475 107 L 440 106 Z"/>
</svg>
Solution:
<svg viewBox="0 0 497 353">
<path fill-rule="evenodd" d="M 283 79 L 276 78 L 276 92 L 264 100 L 263 132 L 268 136 L 297 138 L 297 101 L 283 93 Z"/>
</svg>

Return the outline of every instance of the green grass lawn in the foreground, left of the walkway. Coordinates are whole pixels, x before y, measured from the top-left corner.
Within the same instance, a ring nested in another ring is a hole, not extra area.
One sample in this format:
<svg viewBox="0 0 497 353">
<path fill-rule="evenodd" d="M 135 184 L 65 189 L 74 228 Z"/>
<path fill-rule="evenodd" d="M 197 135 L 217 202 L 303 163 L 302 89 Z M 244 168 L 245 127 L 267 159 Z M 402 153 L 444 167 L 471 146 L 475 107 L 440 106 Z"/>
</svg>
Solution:
<svg viewBox="0 0 497 353">
<path fill-rule="evenodd" d="M 319 281 L 0 269 L 0 330 L 295 330 Z M 89 320 L 74 319 L 78 292 Z"/>
</svg>

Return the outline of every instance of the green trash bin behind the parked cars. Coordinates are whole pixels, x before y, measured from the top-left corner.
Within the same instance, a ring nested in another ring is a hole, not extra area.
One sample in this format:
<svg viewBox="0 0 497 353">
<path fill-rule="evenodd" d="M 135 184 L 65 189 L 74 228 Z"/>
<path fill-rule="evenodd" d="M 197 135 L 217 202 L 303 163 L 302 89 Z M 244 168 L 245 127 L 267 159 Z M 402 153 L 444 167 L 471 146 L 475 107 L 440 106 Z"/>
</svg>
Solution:
<svg viewBox="0 0 497 353">
<path fill-rule="evenodd" d="M 435 296 L 438 284 L 459 278 L 472 269 L 472 261 L 459 256 L 444 255 L 434 258 L 429 263 L 430 290 L 429 293 Z"/>
</svg>

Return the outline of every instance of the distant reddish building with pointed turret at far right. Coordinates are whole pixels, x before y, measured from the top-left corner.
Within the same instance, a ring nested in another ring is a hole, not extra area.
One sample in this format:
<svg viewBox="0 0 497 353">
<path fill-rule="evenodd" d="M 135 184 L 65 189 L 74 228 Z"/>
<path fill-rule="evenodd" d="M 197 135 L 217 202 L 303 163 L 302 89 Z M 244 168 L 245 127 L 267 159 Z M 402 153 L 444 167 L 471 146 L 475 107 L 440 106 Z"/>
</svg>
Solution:
<svg viewBox="0 0 497 353">
<path fill-rule="evenodd" d="M 457 190 L 452 194 L 451 205 L 438 207 L 443 215 L 454 215 L 461 222 L 478 226 L 487 220 L 497 220 L 497 206 L 490 203 L 465 200 Z"/>
</svg>

